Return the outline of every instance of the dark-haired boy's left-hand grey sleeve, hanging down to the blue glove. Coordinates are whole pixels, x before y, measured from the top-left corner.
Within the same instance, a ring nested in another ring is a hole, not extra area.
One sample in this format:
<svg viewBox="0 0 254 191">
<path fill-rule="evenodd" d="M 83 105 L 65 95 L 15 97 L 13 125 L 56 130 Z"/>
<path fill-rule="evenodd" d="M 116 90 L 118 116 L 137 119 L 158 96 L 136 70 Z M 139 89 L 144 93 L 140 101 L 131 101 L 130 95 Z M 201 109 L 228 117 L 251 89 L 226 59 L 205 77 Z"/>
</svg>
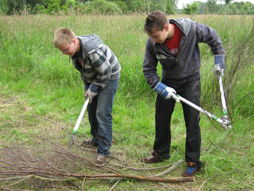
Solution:
<svg viewBox="0 0 254 191">
<path fill-rule="evenodd" d="M 157 74 L 157 63 L 156 54 L 152 42 L 148 39 L 146 42 L 146 52 L 143 62 L 143 73 L 147 80 L 147 83 L 154 88 L 159 83 L 160 78 Z"/>
</svg>

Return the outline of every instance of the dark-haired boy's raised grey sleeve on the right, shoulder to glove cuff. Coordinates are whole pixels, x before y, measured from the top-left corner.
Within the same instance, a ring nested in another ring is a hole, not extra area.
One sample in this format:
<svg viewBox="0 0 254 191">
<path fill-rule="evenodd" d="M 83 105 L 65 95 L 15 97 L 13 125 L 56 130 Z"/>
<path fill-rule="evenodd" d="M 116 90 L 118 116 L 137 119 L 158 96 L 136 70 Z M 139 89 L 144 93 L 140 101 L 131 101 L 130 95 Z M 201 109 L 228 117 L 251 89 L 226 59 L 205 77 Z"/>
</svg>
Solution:
<svg viewBox="0 0 254 191">
<path fill-rule="evenodd" d="M 200 23 L 195 23 L 195 25 L 198 42 L 208 44 L 213 55 L 225 54 L 221 39 L 213 28 Z"/>
</svg>

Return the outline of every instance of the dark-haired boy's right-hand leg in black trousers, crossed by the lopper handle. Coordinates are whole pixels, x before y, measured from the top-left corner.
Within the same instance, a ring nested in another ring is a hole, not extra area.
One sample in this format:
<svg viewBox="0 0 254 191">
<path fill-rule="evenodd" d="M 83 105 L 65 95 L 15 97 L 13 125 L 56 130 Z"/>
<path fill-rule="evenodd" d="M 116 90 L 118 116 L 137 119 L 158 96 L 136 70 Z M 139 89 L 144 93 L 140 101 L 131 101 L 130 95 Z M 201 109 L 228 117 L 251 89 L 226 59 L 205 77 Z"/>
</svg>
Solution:
<svg viewBox="0 0 254 191">
<path fill-rule="evenodd" d="M 182 97 L 190 102 L 200 105 L 200 81 L 186 83 L 180 93 Z M 185 160 L 200 164 L 201 135 L 199 126 L 200 112 L 182 103 L 186 125 Z"/>
</svg>

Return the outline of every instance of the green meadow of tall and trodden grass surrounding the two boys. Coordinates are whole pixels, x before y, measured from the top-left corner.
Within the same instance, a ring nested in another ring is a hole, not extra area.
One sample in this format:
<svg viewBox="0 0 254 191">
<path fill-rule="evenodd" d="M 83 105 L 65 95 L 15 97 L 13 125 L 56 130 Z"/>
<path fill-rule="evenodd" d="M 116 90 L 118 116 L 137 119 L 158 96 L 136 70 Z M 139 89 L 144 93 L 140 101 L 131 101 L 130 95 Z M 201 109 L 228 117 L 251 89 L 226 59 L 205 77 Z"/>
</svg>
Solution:
<svg viewBox="0 0 254 191">
<path fill-rule="evenodd" d="M 224 88 L 233 128 L 224 130 L 220 124 L 201 114 L 201 161 L 205 163 L 205 168 L 196 176 L 195 182 L 168 184 L 128 180 L 119 182 L 114 190 L 253 190 L 254 17 L 188 17 L 213 27 L 221 37 L 226 50 Z M 122 71 L 113 110 L 111 151 L 130 166 L 144 168 L 140 159 L 152 151 L 156 97 L 142 72 L 147 39 L 143 32 L 144 19 L 145 15 L 142 14 L 0 16 L 1 147 L 17 143 L 37 147 L 36 137 L 39 135 L 67 145 L 84 102 L 83 84 L 70 59 L 53 47 L 52 40 L 58 27 L 69 27 L 77 35 L 99 35 L 117 55 Z M 202 107 L 221 117 L 213 56 L 206 44 L 200 44 L 200 50 Z M 185 124 L 179 103 L 171 124 L 171 158 L 161 164 L 146 165 L 146 168 L 184 159 Z M 89 136 L 90 128 L 85 115 L 78 138 L 82 140 Z M 168 176 L 181 176 L 184 168 L 183 163 Z M 143 175 L 151 174 L 144 172 Z M 11 184 L 0 181 L 0 190 L 5 190 L 4 186 Z M 59 182 L 43 186 L 38 182 L 22 181 L 11 188 L 109 190 L 113 184 L 110 181 L 86 180 L 84 188 L 79 183 L 77 187 Z"/>
</svg>

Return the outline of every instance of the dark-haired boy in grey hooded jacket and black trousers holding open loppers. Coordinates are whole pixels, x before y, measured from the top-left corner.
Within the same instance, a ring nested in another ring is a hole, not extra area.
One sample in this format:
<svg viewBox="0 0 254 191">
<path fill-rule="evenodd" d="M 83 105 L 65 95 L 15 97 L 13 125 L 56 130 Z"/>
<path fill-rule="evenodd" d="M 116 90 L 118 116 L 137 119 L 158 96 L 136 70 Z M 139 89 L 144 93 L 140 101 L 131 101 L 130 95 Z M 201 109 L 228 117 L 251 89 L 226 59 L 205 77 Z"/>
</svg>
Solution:
<svg viewBox="0 0 254 191">
<path fill-rule="evenodd" d="M 224 49 L 216 31 L 190 19 L 171 19 L 160 11 L 150 13 L 144 30 L 149 38 L 143 63 L 143 72 L 156 98 L 156 136 L 153 152 L 142 159 L 145 163 L 161 162 L 170 158 L 170 120 L 177 94 L 200 105 L 200 51 L 198 43 L 211 47 L 217 72 L 224 70 Z M 162 65 L 162 79 L 157 74 L 157 63 Z M 185 160 L 183 176 L 193 176 L 201 169 L 201 135 L 199 112 L 182 103 L 186 125 Z"/>
</svg>

